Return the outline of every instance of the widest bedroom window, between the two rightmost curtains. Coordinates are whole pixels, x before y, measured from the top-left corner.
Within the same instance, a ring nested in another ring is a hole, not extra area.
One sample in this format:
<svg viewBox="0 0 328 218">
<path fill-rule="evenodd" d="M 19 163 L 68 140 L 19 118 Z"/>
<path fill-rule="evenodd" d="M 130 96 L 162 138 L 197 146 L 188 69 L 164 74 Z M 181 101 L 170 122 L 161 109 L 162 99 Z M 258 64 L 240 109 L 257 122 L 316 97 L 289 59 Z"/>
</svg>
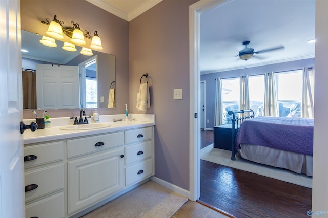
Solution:
<svg viewBox="0 0 328 218">
<path fill-rule="evenodd" d="M 276 74 L 279 116 L 301 117 L 302 70 Z"/>
</svg>

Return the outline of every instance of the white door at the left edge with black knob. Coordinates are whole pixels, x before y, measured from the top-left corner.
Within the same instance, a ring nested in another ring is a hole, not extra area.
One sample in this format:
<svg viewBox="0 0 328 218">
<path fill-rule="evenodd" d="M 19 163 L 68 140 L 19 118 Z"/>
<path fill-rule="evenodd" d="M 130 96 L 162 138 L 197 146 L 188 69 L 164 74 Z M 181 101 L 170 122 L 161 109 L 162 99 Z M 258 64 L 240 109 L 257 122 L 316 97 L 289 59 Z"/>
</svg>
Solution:
<svg viewBox="0 0 328 218">
<path fill-rule="evenodd" d="M 25 217 L 20 1 L 0 1 L 0 218 Z"/>
</svg>

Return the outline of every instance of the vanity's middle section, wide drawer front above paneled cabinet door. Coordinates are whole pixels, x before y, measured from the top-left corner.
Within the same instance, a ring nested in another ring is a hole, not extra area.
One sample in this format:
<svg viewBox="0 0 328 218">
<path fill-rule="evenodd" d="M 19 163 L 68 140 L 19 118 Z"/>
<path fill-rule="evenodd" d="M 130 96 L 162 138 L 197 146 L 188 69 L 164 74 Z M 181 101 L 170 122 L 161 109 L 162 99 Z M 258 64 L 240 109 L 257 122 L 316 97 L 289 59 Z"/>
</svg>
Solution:
<svg viewBox="0 0 328 218">
<path fill-rule="evenodd" d="M 67 140 L 68 212 L 73 213 L 124 188 L 122 132 Z M 79 157 L 80 156 L 80 157 Z"/>
</svg>

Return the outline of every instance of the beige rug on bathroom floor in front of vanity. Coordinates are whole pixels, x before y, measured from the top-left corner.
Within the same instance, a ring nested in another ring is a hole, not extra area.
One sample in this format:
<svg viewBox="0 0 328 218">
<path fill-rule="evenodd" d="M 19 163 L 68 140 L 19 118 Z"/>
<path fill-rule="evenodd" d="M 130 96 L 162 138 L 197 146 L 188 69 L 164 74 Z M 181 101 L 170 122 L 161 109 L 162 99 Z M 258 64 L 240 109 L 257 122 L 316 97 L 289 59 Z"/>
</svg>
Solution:
<svg viewBox="0 0 328 218">
<path fill-rule="evenodd" d="M 91 211 L 83 218 L 166 218 L 171 217 L 187 201 L 188 198 L 149 181 Z"/>
</svg>

